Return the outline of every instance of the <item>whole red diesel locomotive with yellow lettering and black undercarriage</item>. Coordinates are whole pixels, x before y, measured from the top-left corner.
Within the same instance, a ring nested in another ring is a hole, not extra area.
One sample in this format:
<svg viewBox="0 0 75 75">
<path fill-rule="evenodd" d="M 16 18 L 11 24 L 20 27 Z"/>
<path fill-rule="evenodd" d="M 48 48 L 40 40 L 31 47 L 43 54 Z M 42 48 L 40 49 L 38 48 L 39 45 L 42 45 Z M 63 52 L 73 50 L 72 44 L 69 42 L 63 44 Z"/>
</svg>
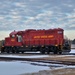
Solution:
<svg viewBox="0 0 75 75">
<path fill-rule="evenodd" d="M 61 54 L 64 50 L 70 51 L 70 45 L 64 41 L 63 29 L 29 29 L 25 31 L 11 32 L 9 37 L 5 38 L 1 53 L 40 51 L 42 54 L 49 54 L 50 52 Z"/>
</svg>

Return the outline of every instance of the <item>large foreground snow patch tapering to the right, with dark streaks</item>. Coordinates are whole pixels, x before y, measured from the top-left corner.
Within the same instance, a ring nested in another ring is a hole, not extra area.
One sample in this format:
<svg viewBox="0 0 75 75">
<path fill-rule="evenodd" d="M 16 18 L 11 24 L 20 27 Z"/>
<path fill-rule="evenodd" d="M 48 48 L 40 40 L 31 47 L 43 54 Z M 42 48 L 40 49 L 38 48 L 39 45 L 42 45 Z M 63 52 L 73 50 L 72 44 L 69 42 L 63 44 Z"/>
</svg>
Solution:
<svg viewBox="0 0 75 75">
<path fill-rule="evenodd" d="M 0 75 L 20 75 L 26 73 L 39 72 L 41 70 L 51 70 L 63 68 L 64 65 L 24 62 L 24 61 L 0 61 Z"/>
</svg>

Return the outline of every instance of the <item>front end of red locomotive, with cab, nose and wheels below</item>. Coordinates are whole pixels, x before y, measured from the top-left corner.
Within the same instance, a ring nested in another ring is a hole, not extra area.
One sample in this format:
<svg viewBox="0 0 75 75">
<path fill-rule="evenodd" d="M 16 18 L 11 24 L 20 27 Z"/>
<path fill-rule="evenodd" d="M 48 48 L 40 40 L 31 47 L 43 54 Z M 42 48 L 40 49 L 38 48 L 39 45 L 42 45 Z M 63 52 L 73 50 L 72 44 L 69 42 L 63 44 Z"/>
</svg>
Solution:
<svg viewBox="0 0 75 75">
<path fill-rule="evenodd" d="M 5 38 L 5 42 L 2 46 L 2 52 L 14 53 L 17 47 L 22 46 L 22 36 L 18 32 L 14 31 L 9 34 L 9 37 Z"/>
</svg>

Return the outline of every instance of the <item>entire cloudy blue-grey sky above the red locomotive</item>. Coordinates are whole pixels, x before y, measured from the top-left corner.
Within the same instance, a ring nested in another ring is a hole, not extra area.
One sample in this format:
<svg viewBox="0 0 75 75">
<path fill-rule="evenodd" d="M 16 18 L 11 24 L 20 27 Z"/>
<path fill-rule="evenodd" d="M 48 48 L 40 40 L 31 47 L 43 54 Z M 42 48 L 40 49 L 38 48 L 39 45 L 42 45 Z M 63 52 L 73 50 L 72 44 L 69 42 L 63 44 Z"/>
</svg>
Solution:
<svg viewBox="0 0 75 75">
<path fill-rule="evenodd" d="M 13 30 L 50 28 L 75 38 L 75 0 L 0 0 L 1 38 Z"/>
</svg>

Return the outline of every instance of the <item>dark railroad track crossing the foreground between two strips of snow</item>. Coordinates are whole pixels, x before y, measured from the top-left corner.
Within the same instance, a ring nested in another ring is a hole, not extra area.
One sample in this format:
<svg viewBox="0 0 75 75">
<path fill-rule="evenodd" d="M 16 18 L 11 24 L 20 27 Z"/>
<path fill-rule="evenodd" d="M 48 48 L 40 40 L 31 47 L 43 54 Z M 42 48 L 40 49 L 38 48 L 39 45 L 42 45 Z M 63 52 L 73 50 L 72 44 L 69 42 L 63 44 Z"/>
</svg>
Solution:
<svg viewBox="0 0 75 75">
<path fill-rule="evenodd" d="M 58 61 L 58 60 L 46 60 L 43 58 L 14 58 L 14 57 L 0 57 L 0 61 L 30 61 L 30 62 L 42 62 L 52 64 L 63 64 L 63 65 L 75 65 L 72 61 Z"/>
</svg>

